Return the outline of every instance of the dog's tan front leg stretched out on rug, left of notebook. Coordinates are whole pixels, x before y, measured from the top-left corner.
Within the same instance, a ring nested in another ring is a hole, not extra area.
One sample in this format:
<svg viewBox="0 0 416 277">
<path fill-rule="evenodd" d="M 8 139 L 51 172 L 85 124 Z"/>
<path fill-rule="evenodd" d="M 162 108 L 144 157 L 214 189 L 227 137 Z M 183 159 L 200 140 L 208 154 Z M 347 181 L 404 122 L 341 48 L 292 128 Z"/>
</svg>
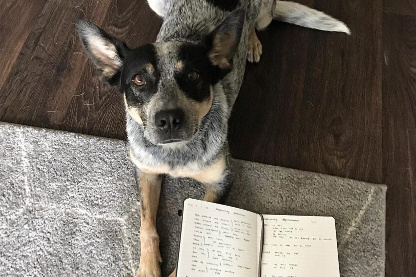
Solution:
<svg viewBox="0 0 416 277">
<path fill-rule="evenodd" d="M 159 206 L 161 175 L 136 169 L 140 185 L 140 265 L 136 277 L 161 277 L 159 235 L 156 231 L 156 213 Z"/>
</svg>

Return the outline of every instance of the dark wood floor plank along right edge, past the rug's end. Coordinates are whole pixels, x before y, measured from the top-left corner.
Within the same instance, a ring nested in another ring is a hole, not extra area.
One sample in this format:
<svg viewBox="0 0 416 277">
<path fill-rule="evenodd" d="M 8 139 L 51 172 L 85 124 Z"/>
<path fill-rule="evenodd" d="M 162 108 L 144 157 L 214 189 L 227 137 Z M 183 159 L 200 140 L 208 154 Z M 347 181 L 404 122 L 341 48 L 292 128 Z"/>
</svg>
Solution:
<svg viewBox="0 0 416 277">
<path fill-rule="evenodd" d="M 416 276 L 416 17 L 383 17 L 386 276 Z"/>
</svg>

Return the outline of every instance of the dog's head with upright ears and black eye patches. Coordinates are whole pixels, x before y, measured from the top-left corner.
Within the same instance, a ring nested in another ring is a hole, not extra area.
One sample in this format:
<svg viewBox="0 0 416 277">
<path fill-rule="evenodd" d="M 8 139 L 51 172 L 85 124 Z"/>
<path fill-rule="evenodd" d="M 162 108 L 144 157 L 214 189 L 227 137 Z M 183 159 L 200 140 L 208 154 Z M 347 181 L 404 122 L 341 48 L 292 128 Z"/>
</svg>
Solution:
<svg viewBox="0 0 416 277">
<path fill-rule="evenodd" d="M 100 79 L 124 95 L 126 110 L 154 144 L 192 139 L 208 113 L 213 86 L 232 67 L 244 21 L 231 13 L 199 43 L 169 41 L 130 49 L 94 24 L 79 37 Z"/>
</svg>

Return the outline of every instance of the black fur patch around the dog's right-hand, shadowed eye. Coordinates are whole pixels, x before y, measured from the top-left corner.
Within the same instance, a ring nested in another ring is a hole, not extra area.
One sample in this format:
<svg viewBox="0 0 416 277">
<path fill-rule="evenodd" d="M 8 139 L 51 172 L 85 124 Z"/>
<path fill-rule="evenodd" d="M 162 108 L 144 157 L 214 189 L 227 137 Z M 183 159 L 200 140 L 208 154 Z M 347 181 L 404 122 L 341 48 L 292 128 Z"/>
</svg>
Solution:
<svg viewBox="0 0 416 277">
<path fill-rule="evenodd" d="M 208 49 L 204 45 L 184 43 L 179 49 L 178 60 L 184 64 L 175 76 L 178 85 L 188 97 L 197 101 L 208 99 L 210 86 L 225 75 L 224 71 L 210 62 Z M 188 78 L 190 71 L 198 72 L 197 80 L 192 81 Z"/>
</svg>

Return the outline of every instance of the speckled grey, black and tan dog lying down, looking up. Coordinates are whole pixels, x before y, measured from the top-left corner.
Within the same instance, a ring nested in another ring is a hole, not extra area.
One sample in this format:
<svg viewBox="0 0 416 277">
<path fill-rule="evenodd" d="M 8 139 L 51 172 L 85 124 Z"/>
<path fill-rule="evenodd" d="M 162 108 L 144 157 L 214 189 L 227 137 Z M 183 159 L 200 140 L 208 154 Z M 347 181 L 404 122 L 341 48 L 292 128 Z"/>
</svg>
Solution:
<svg viewBox="0 0 416 277">
<path fill-rule="evenodd" d="M 162 176 L 193 178 L 205 201 L 232 184 L 227 124 L 246 60 L 258 62 L 256 30 L 272 19 L 350 33 L 341 21 L 277 0 L 148 0 L 163 18 L 157 42 L 129 48 L 96 25 L 77 31 L 101 81 L 123 93 L 130 157 L 141 191 L 137 277 L 160 277 L 156 231 Z M 176 276 L 174 273 L 171 276 Z"/>
</svg>

